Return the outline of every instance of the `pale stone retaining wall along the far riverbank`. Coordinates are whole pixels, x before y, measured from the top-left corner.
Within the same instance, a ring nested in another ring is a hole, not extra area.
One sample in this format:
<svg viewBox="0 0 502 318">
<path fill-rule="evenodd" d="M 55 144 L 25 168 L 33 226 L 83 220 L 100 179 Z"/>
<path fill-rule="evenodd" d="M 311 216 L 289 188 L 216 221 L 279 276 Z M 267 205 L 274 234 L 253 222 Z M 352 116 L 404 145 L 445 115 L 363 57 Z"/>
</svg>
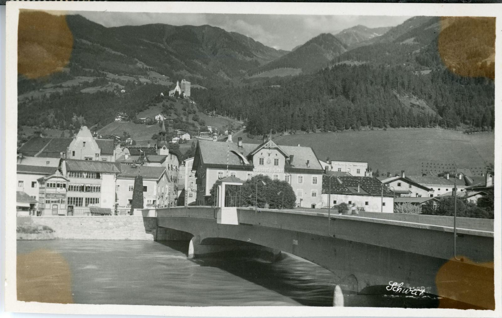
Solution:
<svg viewBox="0 0 502 318">
<path fill-rule="evenodd" d="M 54 230 L 56 239 L 154 240 L 157 218 L 143 216 L 40 216 L 33 223 Z M 24 238 L 24 237 L 23 237 Z M 28 238 L 26 238 L 28 239 Z"/>
</svg>

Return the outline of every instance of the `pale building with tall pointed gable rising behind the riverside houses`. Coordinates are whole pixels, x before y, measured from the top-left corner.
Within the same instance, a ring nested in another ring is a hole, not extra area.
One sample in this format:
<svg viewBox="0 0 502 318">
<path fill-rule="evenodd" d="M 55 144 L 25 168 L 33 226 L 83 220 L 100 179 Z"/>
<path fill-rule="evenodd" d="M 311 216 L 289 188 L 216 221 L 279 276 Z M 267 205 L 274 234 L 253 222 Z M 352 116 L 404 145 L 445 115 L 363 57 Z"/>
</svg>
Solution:
<svg viewBox="0 0 502 318">
<path fill-rule="evenodd" d="M 70 142 L 66 158 L 76 160 L 115 161 L 114 141 L 94 139 L 86 126 L 81 126 Z"/>
</svg>

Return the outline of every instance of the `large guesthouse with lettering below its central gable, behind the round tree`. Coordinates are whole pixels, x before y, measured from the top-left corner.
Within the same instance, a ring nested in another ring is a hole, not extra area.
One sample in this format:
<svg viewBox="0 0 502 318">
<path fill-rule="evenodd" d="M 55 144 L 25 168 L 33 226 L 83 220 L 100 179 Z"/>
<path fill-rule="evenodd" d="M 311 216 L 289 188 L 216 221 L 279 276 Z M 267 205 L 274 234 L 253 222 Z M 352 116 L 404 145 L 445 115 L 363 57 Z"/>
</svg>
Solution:
<svg viewBox="0 0 502 318">
<path fill-rule="evenodd" d="M 320 208 L 323 170 L 310 147 L 279 146 L 264 136 L 260 145 L 253 143 L 199 140 L 193 169 L 197 178 L 197 205 L 207 205 L 209 190 L 217 180 L 235 177 L 248 180 L 266 175 L 288 182 L 299 207 Z"/>
</svg>

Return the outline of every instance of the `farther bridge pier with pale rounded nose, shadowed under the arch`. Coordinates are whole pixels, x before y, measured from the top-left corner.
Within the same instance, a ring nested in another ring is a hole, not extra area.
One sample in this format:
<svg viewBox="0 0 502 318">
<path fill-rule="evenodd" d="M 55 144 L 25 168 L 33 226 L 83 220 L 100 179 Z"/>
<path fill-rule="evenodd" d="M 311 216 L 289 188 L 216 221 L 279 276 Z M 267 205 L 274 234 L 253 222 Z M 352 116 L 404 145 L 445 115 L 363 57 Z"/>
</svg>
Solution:
<svg viewBox="0 0 502 318">
<path fill-rule="evenodd" d="M 200 236 L 196 235 L 190 240 L 188 258 L 222 256 L 260 258 L 274 262 L 281 256 L 281 251 L 226 238 L 205 238 L 201 240 Z"/>
</svg>

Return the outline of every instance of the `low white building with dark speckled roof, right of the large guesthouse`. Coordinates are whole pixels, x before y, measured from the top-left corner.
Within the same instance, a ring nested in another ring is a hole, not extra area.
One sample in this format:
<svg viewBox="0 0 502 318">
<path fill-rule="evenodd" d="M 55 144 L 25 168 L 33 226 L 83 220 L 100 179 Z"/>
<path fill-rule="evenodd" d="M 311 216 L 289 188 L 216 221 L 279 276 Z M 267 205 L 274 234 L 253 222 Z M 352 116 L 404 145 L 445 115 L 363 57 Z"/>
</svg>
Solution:
<svg viewBox="0 0 502 318">
<path fill-rule="evenodd" d="M 330 206 L 345 203 L 355 205 L 361 211 L 394 213 L 394 194 L 373 177 L 324 175 L 323 207 L 328 206 L 328 200 L 331 200 Z"/>
</svg>

